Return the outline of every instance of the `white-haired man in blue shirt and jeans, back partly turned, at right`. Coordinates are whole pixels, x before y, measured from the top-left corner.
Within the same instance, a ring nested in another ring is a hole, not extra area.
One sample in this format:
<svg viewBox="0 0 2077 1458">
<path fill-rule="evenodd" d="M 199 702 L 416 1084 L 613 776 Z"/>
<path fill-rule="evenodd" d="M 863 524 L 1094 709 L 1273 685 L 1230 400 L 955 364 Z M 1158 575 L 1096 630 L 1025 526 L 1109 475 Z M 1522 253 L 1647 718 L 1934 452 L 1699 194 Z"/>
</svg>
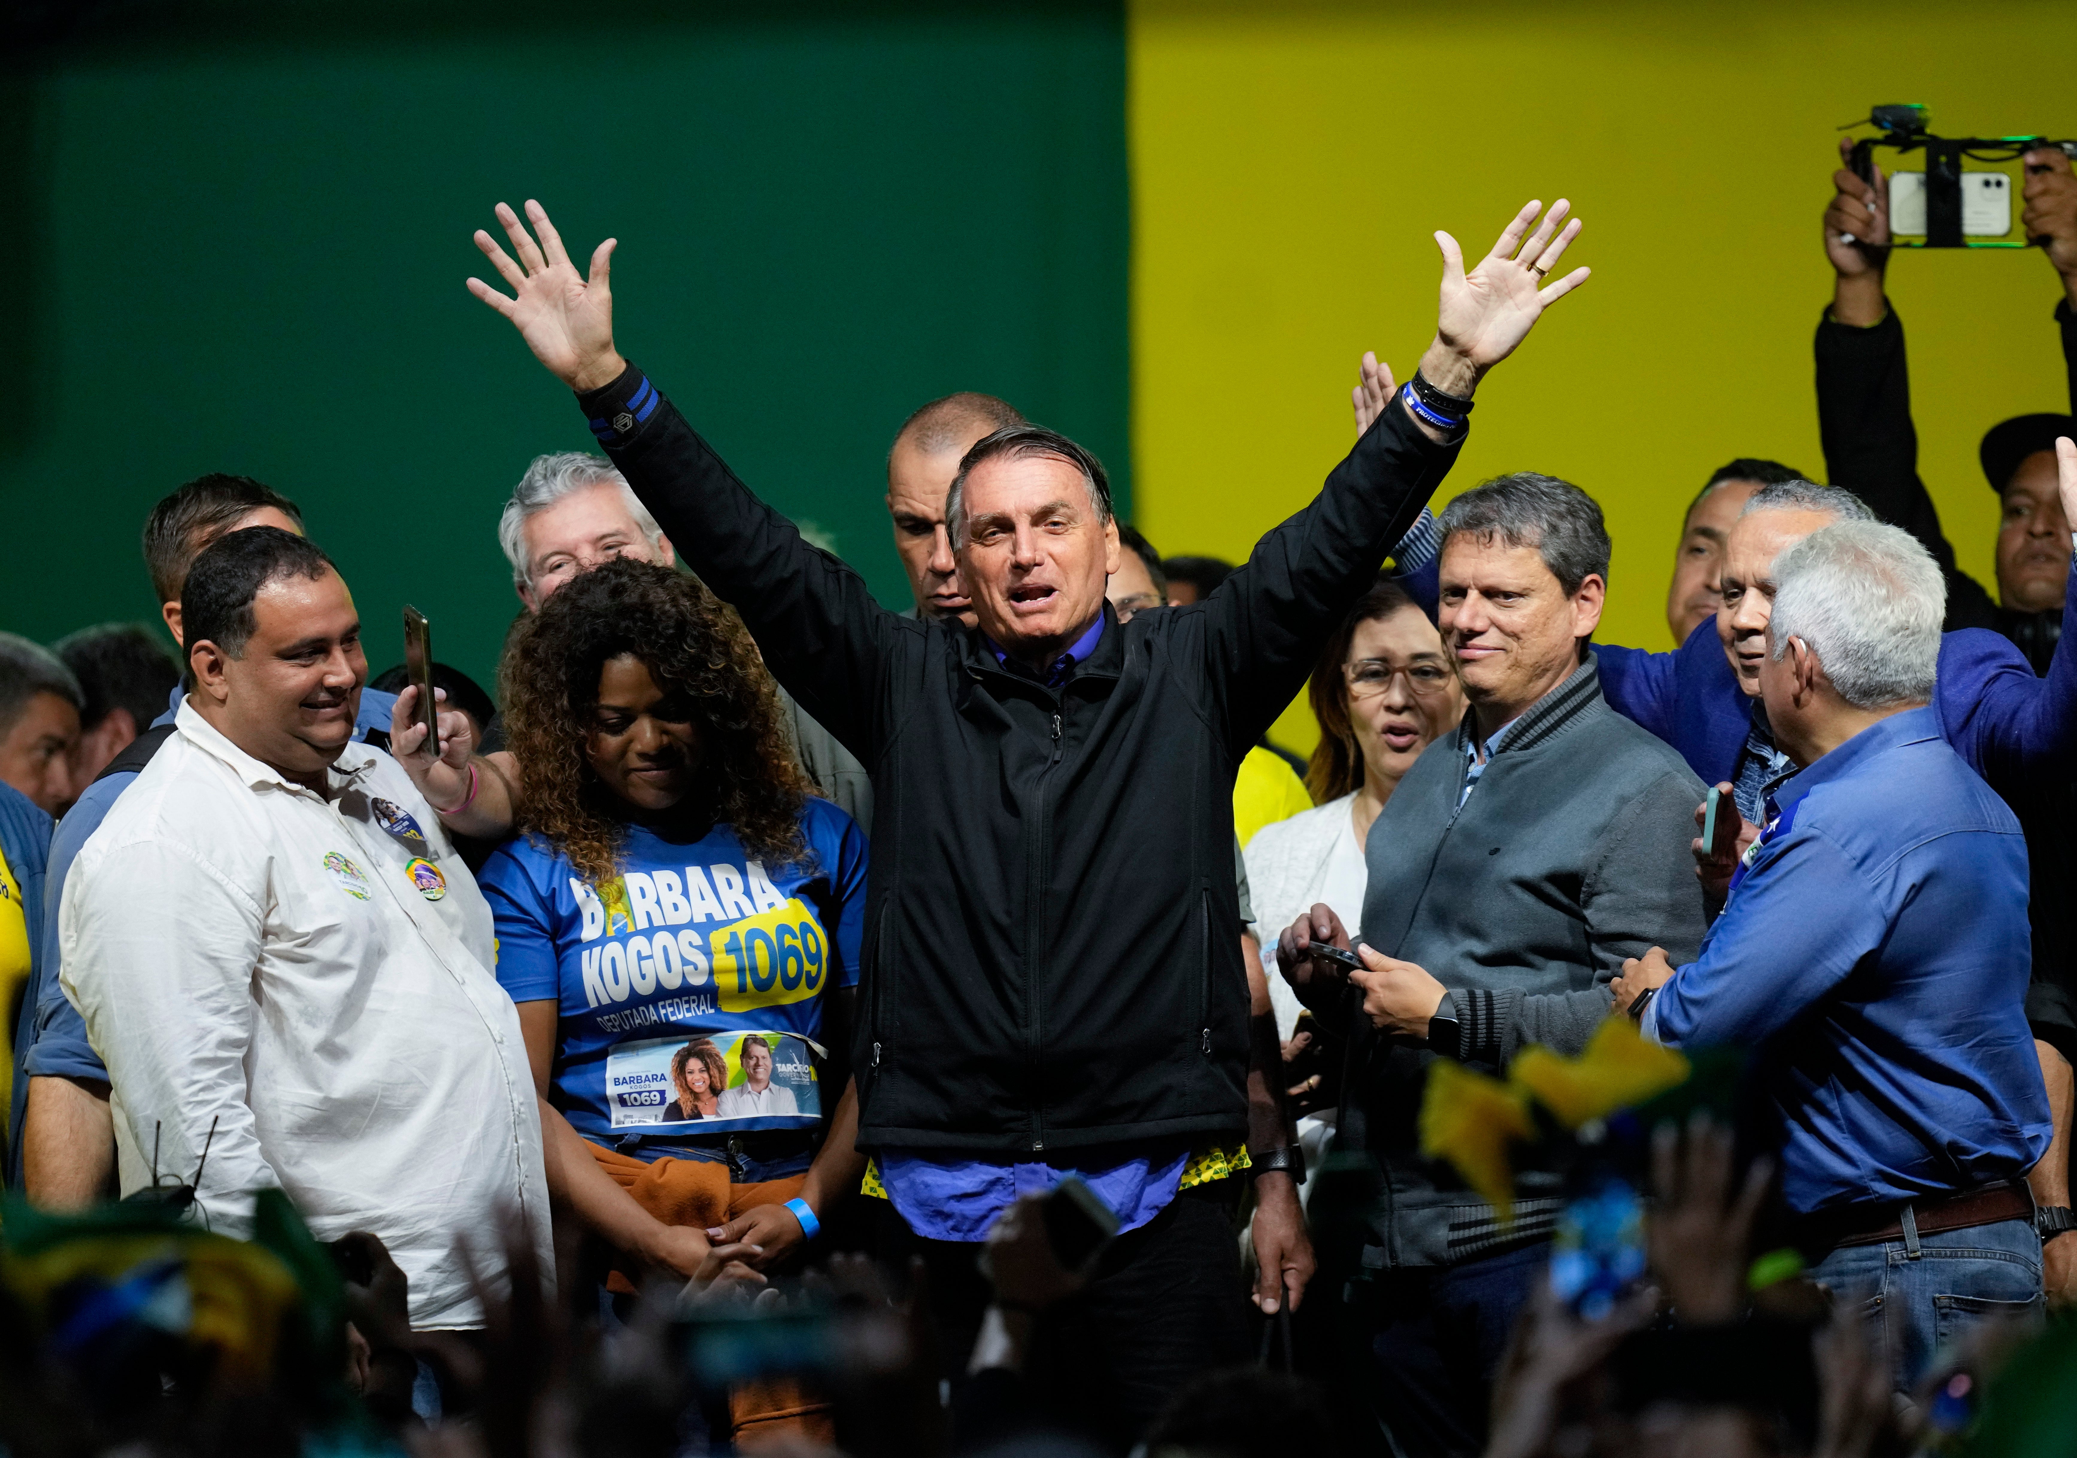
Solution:
<svg viewBox="0 0 2077 1458">
<path fill-rule="evenodd" d="M 1670 1047 L 1755 1051 L 1790 1238 L 1817 1281 L 1880 1292 L 1909 1392 L 1936 1346 L 2042 1302 L 2027 845 L 1940 735 L 1946 590 L 1917 538 L 1822 528 L 1772 594 L 1759 694 L 1795 775 L 1701 955 L 1626 962 L 1618 1001 Z"/>
</svg>

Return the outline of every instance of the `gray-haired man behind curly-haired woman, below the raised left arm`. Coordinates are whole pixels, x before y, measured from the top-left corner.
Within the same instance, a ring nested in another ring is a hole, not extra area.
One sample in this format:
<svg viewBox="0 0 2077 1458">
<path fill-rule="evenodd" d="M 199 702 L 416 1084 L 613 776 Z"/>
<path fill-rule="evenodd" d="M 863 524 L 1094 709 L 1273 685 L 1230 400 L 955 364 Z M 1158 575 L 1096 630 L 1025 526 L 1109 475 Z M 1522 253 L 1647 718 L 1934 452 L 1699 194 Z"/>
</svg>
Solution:
<svg viewBox="0 0 2077 1458">
<path fill-rule="evenodd" d="M 498 546 L 513 565 L 513 592 L 534 613 L 579 571 L 615 557 L 677 565 L 671 538 L 636 496 L 627 478 L 602 455 L 557 451 L 538 455 L 513 486 L 498 517 Z M 872 779 L 866 766 L 831 737 L 779 685 L 779 710 L 793 733 L 793 752 L 827 800 L 872 833 Z M 492 756 L 513 783 L 511 756 Z"/>
</svg>

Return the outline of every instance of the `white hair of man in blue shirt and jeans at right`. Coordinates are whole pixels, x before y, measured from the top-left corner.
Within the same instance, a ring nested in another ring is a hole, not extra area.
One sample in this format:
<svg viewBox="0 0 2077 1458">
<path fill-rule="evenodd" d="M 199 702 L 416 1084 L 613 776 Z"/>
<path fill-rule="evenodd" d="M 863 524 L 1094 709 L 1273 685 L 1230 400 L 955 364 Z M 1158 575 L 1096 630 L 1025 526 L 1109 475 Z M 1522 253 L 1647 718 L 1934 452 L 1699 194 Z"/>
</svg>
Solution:
<svg viewBox="0 0 2077 1458">
<path fill-rule="evenodd" d="M 1855 708 L 1934 696 L 1944 617 L 1940 565 L 1903 528 L 1834 521 L 1774 559 L 1774 660 L 1788 652 L 1790 638 L 1801 638 Z"/>
</svg>

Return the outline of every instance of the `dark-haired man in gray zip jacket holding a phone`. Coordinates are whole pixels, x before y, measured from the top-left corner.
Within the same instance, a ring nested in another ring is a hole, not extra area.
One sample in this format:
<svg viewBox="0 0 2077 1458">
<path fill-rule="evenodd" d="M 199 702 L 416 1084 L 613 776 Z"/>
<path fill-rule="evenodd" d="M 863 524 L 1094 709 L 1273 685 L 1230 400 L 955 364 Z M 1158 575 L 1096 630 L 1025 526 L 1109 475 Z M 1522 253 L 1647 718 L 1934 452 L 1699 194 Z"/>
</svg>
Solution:
<svg viewBox="0 0 2077 1458">
<path fill-rule="evenodd" d="M 1579 1053 L 1624 957 L 1691 960 L 1705 930 L 1691 837 L 1703 785 L 1680 754 L 1601 702 L 1587 644 L 1608 530 L 1587 492 L 1504 476 L 1441 515 L 1439 627 L 1471 712 L 1400 781 L 1367 843 L 1365 970 L 1325 906 L 1284 933 L 1298 995 L 1348 1036 L 1338 1146 L 1383 1196 L 1344 1286 L 1363 1392 L 1404 1454 L 1485 1446 L 1493 1371 L 1560 1209 L 1554 1176 L 1516 1180 L 1514 1223 L 1419 1155 L 1427 1065 L 1502 1072 L 1531 1043 Z M 1354 1346 L 1354 1344 L 1352 1344 Z"/>
</svg>

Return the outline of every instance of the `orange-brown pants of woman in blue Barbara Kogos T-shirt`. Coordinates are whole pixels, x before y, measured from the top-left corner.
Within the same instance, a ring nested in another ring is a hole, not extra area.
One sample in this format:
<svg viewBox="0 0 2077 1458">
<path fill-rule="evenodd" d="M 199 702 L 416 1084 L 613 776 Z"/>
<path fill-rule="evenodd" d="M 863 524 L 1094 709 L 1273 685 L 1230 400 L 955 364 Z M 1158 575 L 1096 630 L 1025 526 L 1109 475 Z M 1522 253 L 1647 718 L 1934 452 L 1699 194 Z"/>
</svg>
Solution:
<svg viewBox="0 0 2077 1458">
<path fill-rule="evenodd" d="M 598 1144 L 588 1144 L 592 1159 L 613 1180 L 636 1196 L 636 1205 L 665 1225 L 710 1230 L 725 1225 L 758 1205 L 785 1205 L 806 1176 L 764 1180 L 762 1184 L 729 1184 L 729 1167 L 712 1159 L 642 1161 Z M 636 1284 L 615 1265 L 606 1290 L 633 1294 Z M 735 1446 L 758 1448 L 806 1439 L 835 1443 L 837 1425 L 827 1402 L 795 1377 L 750 1381 L 729 1394 L 729 1416 L 735 1423 Z"/>
</svg>

